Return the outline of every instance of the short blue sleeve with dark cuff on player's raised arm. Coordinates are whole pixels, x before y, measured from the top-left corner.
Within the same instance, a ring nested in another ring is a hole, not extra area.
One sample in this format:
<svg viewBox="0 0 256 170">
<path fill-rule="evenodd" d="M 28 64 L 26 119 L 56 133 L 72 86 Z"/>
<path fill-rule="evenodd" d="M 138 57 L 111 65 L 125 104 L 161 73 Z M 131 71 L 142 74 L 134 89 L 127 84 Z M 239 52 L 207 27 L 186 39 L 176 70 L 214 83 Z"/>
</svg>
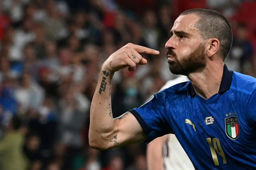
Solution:
<svg viewBox="0 0 256 170">
<path fill-rule="evenodd" d="M 130 112 L 138 120 L 147 135 L 147 143 L 171 133 L 165 112 L 165 91 L 152 95 L 141 107 Z"/>
</svg>

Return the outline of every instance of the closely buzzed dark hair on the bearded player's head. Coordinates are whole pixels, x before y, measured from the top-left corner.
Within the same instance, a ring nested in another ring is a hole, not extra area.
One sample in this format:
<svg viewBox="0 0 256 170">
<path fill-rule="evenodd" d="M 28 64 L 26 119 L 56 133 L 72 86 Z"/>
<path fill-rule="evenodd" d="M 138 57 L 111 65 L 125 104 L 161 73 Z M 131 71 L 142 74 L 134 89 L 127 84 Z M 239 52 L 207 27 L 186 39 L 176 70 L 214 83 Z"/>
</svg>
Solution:
<svg viewBox="0 0 256 170">
<path fill-rule="evenodd" d="M 203 39 L 217 38 L 220 42 L 220 52 L 223 60 L 231 50 L 233 35 L 227 19 L 218 11 L 211 9 L 189 9 L 180 14 L 195 14 L 200 17 L 195 26 L 201 32 Z"/>
</svg>

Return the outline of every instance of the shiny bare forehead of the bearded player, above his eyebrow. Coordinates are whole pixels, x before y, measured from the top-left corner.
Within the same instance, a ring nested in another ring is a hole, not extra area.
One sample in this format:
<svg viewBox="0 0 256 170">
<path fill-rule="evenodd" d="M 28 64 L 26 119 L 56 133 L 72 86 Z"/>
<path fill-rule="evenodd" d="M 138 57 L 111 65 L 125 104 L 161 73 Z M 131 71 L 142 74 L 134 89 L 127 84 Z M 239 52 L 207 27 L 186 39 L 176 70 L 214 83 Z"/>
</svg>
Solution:
<svg viewBox="0 0 256 170">
<path fill-rule="evenodd" d="M 171 31 L 184 31 L 184 32 L 196 32 L 199 31 L 195 27 L 195 23 L 199 20 L 199 16 L 195 14 L 181 15 L 179 16 L 173 24 Z"/>
</svg>

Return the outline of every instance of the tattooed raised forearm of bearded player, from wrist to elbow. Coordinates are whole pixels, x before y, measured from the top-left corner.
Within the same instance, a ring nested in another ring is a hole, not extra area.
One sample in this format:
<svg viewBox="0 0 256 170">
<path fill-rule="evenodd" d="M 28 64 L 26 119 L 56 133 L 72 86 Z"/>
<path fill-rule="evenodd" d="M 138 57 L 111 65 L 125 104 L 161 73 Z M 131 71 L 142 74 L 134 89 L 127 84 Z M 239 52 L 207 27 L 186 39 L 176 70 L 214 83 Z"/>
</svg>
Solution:
<svg viewBox="0 0 256 170">
<path fill-rule="evenodd" d="M 114 131 L 111 108 L 111 80 L 113 74 L 102 68 L 90 108 L 89 142 L 110 141 Z M 92 141 L 91 141 L 92 140 Z"/>
</svg>

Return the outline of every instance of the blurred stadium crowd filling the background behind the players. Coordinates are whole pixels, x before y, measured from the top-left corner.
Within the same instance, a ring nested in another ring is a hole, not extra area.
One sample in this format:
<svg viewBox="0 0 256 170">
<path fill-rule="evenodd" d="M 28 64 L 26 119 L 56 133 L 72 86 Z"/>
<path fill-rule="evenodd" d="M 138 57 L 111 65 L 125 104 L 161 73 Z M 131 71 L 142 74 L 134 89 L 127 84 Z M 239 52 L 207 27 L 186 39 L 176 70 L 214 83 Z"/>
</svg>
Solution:
<svg viewBox="0 0 256 170">
<path fill-rule="evenodd" d="M 146 170 L 145 143 L 88 146 L 90 101 L 102 63 L 128 42 L 160 55 L 115 73 L 113 117 L 175 78 L 164 46 L 190 8 L 222 12 L 234 34 L 227 66 L 256 76 L 255 1 L 0 0 L 0 169 Z"/>
</svg>

